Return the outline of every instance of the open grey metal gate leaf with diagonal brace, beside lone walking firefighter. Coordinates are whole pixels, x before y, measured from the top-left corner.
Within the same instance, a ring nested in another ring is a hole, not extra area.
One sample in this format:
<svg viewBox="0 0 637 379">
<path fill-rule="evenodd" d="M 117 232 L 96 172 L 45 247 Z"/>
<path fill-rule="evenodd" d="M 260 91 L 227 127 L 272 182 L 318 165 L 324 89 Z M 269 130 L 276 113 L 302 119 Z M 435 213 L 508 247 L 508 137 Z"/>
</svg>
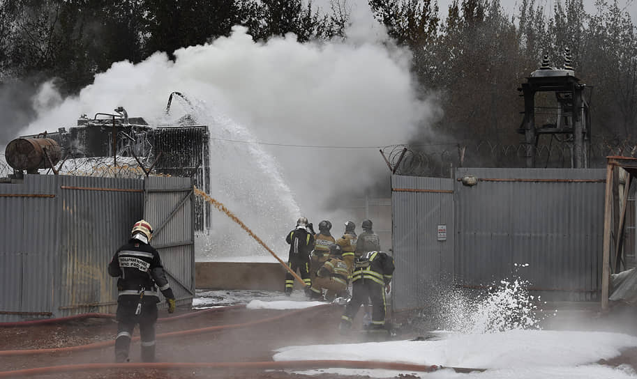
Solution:
<svg viewBox="0 0 637 379">
<path fill-rule="evenodd" d="M 144 180 L 144 219 L 153 226 L 159 252 L 177 304 L 195 295 L 195 207 L 193 178 Z"/>
</svg>

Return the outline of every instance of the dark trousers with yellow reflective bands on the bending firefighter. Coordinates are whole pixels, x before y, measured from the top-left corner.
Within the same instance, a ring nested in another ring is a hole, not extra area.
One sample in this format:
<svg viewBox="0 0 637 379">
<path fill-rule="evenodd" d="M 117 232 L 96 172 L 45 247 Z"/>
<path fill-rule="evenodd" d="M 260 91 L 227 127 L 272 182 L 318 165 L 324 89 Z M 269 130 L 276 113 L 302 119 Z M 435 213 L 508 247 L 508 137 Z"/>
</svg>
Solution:
<svg viewBox="0 0 637 379">
<path fill-rule="evenodd" d="M 352 284 L 352 299 L 345 307 L 342 320 L 350 326 L 361 304 L 372 302 L 372 327 L 383 327 L 385 325 L 385 286 L 372 279 L 358 279 Z"/>
</svg>

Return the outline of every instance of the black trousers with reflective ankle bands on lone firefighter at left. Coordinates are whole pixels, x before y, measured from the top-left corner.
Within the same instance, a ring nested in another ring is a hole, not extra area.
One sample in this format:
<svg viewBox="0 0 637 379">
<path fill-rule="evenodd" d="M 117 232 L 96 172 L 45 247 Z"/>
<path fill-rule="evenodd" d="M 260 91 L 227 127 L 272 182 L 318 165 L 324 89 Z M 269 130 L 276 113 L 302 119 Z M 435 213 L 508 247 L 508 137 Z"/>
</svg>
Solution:
<svg viewBox="0 0 637 379">
<path fill-rule="evenodd" d="M 115 338 L 115 362 L 126 362 L 135 324 L 140 325 L 142 362 L 155 362 L 155 323 L 157 321 L 156 298 L 142 302 L 141 313 L 135 314 L 139 298 L 117 300 L 117 337 Z"/>
</svg>

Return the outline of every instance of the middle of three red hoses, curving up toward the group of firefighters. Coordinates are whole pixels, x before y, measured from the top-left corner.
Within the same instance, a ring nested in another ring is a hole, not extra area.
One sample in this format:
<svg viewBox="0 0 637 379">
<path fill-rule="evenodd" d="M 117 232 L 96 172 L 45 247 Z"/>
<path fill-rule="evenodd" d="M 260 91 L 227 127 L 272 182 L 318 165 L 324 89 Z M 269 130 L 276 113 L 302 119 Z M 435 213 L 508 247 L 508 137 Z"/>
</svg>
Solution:
<svg viewBox="0 0 637 379">
<path fill-rule="evenodd" d="M 219 330 L 237 329 L 237 328 L 240 328 L 240 327 L 250 327 L 250 326 L 253 326 L 253 325 L 258 325 L 258 324 L 261 324 L 261 323 L 268 323 L 270 321 L 279 320 L 281 318 L 286 318 L 286 317 L 289 317 L 289 316 L 294 316 L 294 315 L 297 315 L 297 314 L 301 314 L 303 312 L 309 311 L 310 309 L 312 311 L 316 311 L 317 309 L 327 308 L 327 307 L 331 307 L 331 304 L 324 304 L 324 305 L 318 305 L 316 307 L 308 307 L 308 308 L 304 308 L 304 309 L 299 309 L 297 311 L 291 311 L 291 312 L 288 312 L 286 314 L 282 314 L 282 315 L 279 315 L 279 316 L 273 316 L 273 317 L 270 317 L 270 318 L 263 318 L 261 320 L 256 320 L 256 321 L 248 321 L 247 323 L 202 327 L 202 328 L 199 328 L 199 329 L 180 330 L 179 332 L 167 332 L 167 333 L 157 334 L 155 338 L 156 339 L 164 339 L 164 338 L 170 338 L 170 337 L 187 336 L 187 335 L 190 335 L 190 334 L 201 334 L 201 333 L 205 333 L 205 332 L 216 332 L 216 331 L 219 331 Z M 131 341 L 137 341 L 139 339 L 140 339 L 140 337 L 137 336 L 137 337 L 133 337 L 131 339 Z M 16 355 L 40 355 L 40 354 L 48 354 L 48 353 L 68 353 L 68 352 L 77 351 L 77 350 L 88 350 L 88 349 L 96 349 L 96 348 L 105 348 L 107 346 L 113 346 L 114 344 L 115 344 L 115 341 L 110 340 L 110 341 L 101 341 L 101 342 L 88 343 L 87 345 L 68 346 L 66 348 L 0 350 L 0 357 L 11 357 L 11 356 L 16 356 Z"/>
</svg>

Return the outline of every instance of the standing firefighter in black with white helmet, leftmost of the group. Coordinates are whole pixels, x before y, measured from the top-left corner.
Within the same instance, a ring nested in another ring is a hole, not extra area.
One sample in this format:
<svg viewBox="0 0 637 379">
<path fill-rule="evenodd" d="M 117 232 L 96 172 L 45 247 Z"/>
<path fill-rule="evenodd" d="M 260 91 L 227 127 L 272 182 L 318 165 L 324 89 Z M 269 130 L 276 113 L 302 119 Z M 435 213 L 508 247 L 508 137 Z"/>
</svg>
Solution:
<svg viewBox="0 0 637 379">
<path fill-rule="evenodd" d="M 310 279 L 310 254 L 314 249 L 314 233 L 312 233 L 306 217 L 299 217 L 297 227 L 287 233 L 285 242 L 290 244 L 290 253 L 287 257 L 287 265 L 292 271 L 301 273 L 301 279 L 306 287 L 312 285 Z M 290 272 L 285 272 L 285 295 L 292 294 L 294 277 Z"/>
</svg>

